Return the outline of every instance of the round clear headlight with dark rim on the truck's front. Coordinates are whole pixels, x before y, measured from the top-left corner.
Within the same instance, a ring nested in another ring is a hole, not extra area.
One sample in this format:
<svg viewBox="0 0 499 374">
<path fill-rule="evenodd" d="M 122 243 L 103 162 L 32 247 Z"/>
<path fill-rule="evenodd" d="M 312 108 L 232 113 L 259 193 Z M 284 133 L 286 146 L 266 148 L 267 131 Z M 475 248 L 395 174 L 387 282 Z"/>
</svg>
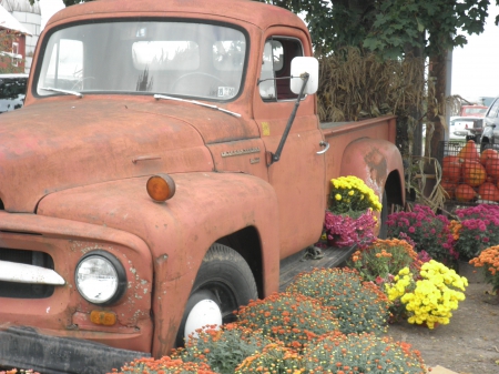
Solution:
<svg viewBox="0 0 499 374">
<path fill-rule="evenodd" d="M 86 253 L 74 273 L 77 289 L 90 303 L 109 305 L 124 294 L 126 273 L 121 262 L 105 251 Z"/>
</svg>

